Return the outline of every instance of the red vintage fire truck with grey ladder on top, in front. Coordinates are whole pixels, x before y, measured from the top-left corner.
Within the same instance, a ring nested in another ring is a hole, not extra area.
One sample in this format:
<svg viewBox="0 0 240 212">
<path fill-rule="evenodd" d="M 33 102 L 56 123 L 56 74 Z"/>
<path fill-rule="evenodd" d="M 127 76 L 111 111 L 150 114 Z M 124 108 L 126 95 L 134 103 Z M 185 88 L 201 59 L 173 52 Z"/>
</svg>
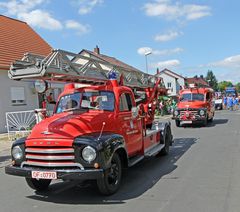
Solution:
<svg viewBox="0 0 240 212">
<path fill-rule="evenodd" d="M 12 145 L 5 172 L 25 177 L 35 190 L 55 179 L 96 180 L 110 195 L 120 187 L 123 168 L 169 152 L 170 122 L 154 120 L 158 96 L 166 92 L 160 78 L 62 50 L 46 58 L 25 55 L 9 77 L 38 79 L 41 92 L 47 81 L 70 82 L 54 114 Z"/>
</svg>

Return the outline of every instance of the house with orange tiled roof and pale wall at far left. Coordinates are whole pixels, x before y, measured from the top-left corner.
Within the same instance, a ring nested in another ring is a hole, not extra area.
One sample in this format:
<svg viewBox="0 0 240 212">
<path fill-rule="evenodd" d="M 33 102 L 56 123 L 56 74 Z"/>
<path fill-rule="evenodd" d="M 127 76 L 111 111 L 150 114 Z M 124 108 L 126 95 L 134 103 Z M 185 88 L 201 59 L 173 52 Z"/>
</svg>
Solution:
<svg viewBox="0 0 240 212">
<path fill-rule="evenodd" d="M 39 107 L 33 82 L 8 78 L 10 65 L 26 52 L 48 55 L 52 48 L 27 23 L 0 15 L 0 133 L 6 132 L 6 112 Z"/>
</svg>

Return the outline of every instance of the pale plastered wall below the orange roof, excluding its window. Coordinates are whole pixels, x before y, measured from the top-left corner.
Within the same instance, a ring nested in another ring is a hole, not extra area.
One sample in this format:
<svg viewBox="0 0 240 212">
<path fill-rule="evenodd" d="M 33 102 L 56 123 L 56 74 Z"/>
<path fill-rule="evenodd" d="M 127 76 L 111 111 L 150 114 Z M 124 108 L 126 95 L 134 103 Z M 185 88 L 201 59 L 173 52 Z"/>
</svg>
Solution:
<svg viewBox="0 0 240 212">
<path fill-rule="evenodd" d="M 24 87 L 25 105 L 12 105 L 11 87 Z M 33 92 L 33 83 L 10 80 L 7 71 L 0 70 L 0 133 L 7 132 L 6 112 L 27 111 L 38 108 L 38 95 Z"/>
</svg>

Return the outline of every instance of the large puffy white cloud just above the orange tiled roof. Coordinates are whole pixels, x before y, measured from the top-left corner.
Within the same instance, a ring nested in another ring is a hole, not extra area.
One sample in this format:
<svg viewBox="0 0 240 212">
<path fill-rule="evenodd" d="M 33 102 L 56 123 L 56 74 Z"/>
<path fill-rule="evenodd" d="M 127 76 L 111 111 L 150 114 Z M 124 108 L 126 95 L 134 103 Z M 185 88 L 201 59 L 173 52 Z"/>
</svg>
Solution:
<svg viewBox="0 0 240 212">
<path fill-rule="evenodd" d="M 42 10 L 33 10 L 28 13 L 20 13 L 18 14 L 18 18 L 34 27 L 49 30 L 60 30 L 63 28 L 60 21 L 54 19 L 48 12 Z"/>
</svg>

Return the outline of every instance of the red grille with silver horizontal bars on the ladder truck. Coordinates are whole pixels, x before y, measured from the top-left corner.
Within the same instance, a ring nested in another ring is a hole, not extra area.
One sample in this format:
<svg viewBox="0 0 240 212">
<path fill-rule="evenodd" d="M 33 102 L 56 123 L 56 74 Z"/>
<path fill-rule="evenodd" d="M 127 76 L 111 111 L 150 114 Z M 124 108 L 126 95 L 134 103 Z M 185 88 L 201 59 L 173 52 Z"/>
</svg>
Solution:
<svg viewBox="0 0 240 212">
<path fill-rule="evenodd" d="M 75 162 L 72 147 L 27 147 L 25 153 L 26 161 L 21 167 L 83 169 L 81 164 Z"/>
</svg>

